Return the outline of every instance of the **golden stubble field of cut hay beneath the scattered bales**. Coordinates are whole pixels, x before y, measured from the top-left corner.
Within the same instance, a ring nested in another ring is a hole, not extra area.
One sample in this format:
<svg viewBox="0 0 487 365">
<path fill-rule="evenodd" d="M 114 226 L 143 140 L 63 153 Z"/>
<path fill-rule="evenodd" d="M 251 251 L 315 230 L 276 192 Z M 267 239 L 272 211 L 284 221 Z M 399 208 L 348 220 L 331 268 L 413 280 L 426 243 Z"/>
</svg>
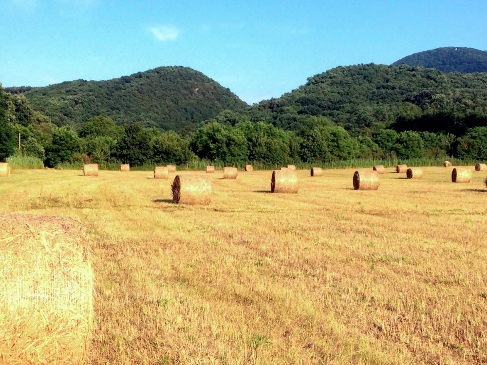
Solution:
<svg viewBox="0 0 487 365">
<path fill-rule="evenodd" d="M 88 227 L 91 364 L 485 363 L 486 173 L 451 169 L 298 171 L 298 194 L 216 171 L 205 206 L 170 202 L 175 174 L 14 170 L 0 210 Z"/>
</svg>

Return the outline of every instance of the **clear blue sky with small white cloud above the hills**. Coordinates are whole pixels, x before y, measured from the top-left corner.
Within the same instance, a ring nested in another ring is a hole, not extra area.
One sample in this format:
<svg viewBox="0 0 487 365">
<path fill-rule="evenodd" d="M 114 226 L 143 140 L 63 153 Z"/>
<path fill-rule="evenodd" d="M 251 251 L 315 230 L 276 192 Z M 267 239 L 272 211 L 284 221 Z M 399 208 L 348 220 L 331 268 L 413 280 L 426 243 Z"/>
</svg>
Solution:
<svg viewBox="0 0 487 365">
<path fill-rule="evenodd" d="M 252 104 L 337 66 L 487 50 L 487 1 L 0 0 L 0 83 L 187 66 Z"/>
</svg>

